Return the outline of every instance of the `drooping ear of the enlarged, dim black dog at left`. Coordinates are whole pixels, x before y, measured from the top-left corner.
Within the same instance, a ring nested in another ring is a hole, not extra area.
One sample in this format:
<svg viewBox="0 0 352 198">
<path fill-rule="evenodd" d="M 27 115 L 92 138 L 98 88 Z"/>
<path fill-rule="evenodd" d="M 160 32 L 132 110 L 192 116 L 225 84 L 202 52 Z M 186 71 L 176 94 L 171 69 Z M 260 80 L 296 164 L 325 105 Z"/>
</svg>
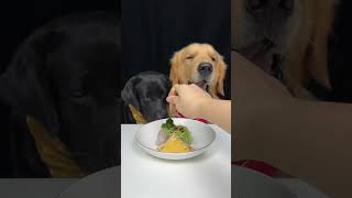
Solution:
<svg viewBox="0 0 352 198">
<path fill-rule="evenodd" d="M 58 32 L 46 32 L 30 37 L 0 76 L 0 100 L 20 113 L 32 116 L 53 133 L 58 132 L 58 120 L 46 57 L 62 43 L 62 36 Z"/>
</svg>

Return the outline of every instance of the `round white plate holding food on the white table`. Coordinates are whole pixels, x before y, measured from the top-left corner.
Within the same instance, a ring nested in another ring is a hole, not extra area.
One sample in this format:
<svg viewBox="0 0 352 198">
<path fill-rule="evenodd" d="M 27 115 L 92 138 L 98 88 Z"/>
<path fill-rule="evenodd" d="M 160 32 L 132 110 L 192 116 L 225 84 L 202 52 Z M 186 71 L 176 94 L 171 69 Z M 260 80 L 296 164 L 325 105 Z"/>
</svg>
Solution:
<svg viewBox="0 0 352 198">
<path fill-rule="evenodd" d="M 193 136 L 191 147 L 194 151 L 187 153 L 160 152 L 157 151 L 156 145 L 157 134 L 162 124 L 165 123 L 166 120 L 167 119 L 150 122 L 136 132 L 135 140 L 138 145 L 153 156 L 165 160 L 191 158 L 209 150 L 210 145 L 216 140 L 216 132 L 208 124 L 190 119 L 173 118 L 176 125 L 185 125 L 190 131 Z"/>
</svg>

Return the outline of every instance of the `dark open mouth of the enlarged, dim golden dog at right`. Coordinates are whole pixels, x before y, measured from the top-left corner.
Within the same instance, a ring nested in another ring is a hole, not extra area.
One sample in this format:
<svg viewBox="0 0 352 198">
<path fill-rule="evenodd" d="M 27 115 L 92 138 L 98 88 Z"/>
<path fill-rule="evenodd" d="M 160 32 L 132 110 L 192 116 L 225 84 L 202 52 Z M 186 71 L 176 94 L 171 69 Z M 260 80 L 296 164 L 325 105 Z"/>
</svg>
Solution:
<svg viewBox="0 0 352 198">
<path fill-rule="evenodd" d="M 264 72 L 272 74 L 273 54 L 268 51 L 270 47 L 270 44 L 260 42 L 244 47 L 239 52 Z"/>
</svg>

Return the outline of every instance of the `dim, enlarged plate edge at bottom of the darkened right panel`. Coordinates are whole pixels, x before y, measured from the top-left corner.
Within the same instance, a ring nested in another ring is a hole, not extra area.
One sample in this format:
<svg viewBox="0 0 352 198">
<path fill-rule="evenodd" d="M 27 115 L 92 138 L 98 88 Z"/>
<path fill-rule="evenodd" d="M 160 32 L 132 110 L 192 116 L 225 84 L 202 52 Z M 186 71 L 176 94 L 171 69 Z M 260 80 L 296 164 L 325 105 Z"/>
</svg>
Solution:
<svg viewBox="0 0 352 198">
<path fill-rule="evenodd" d="M 243 167 L 232 167 L 232 184 L 234 198 L 297 198 L 275 179 Z"/>
</svg>

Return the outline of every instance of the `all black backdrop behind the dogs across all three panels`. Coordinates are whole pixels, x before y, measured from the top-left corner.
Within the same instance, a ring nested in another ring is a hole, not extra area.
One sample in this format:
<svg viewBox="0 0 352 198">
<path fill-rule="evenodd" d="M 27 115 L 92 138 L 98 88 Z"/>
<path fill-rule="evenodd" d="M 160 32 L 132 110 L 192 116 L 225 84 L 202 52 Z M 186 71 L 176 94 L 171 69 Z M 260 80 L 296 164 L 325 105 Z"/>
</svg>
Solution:
<svg viewBox="0 0 352 198">
<path fill-rule="evenodd" d="M 88 10 L 116 11 L 118 0 L 32 0 L 1 4 L 0 74 L 6 69 L 16 46 L 36 28 L 65 13 Z M 338 6 L 330 40 L 329 67 L 334 90 L 321 92 L 327 100 L 352 102 L 352 2 Z M 123 0 L 123 77 L 122 85 L 141 70 L 169 72 L 172 54 L 190 42 L 208 42 L 230 65 L 230 1 L 216 0 Z M 229 97 L 230 70 L 227 77 Z M 10 170 L 8 157 L 9 107 L 0 103 L 0 176 Z"/>
</svg>

